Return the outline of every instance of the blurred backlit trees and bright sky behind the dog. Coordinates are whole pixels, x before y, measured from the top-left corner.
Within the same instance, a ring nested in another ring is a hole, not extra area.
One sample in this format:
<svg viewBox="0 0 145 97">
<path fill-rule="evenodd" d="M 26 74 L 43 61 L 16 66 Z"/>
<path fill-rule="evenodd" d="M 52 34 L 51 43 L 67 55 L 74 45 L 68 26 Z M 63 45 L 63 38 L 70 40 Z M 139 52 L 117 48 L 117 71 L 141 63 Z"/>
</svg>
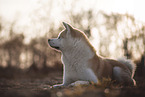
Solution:
<svg viewBox="0 0 145 97">
<path fill-rule="evenodd" d="M 144 0 L 0 0 L 0 78 L 62 73 L 48 46 L 62 22 L 84 31 L 104 57 L 127 57 L 145 74 Z"/>
</svg>

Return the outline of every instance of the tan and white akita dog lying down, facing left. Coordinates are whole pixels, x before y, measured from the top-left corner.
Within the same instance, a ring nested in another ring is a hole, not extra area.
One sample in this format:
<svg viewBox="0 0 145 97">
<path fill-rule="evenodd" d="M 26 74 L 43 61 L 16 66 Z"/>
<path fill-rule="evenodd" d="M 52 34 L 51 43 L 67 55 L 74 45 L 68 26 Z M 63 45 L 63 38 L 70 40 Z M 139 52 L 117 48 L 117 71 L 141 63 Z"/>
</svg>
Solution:
<svg viewBox="0 0 145 97">
<path fill-rule="evenodd" d="M 86 35 L 64 23 L 65 29 L 58 38 L 48 39 L 48 43 L 62 53 L 63 83 L 67 86 L 75 81 L 91 81 L 97 83 L 103 78 L 110 78 L 127 85 L 135 85 L 133 79 L 135 65 L 129 60 L 105 59 L 96 54 Z"/>
</svg>

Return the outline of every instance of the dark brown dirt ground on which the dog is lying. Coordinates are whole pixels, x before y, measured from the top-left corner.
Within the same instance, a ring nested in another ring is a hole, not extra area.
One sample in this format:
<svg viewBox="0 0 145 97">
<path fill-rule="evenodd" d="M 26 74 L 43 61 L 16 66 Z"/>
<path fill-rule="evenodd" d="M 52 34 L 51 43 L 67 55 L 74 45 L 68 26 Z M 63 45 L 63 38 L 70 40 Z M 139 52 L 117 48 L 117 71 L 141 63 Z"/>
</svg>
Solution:
<svg viewBox="0 0 145 97">
<path fill-rule="evenodd" d="M 0 79 L 0 97 L 145 97 L 145 78 L 136 81 L 136 87 L 105 83 L 51 88 L 62 82 L 62 74 L 52 72 L 42 78 Z"/>
</svg>

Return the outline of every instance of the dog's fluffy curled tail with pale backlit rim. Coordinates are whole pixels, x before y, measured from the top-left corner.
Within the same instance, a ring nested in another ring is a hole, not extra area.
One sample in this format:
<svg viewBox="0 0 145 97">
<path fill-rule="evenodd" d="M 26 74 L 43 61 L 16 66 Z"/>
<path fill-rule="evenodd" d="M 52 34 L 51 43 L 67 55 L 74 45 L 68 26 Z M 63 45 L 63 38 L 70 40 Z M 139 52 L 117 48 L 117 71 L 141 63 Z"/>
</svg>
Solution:
<svg viewBox="0 0 145 97">
<path fill-rule="evenodd" d="M 125 64 L 128 67 L 133 77 L 136 70 L 136 64 L 134 64 L 131 60 L 126 58 L 119 58 L 118 61 L 122 64 Z"/>
</svg>

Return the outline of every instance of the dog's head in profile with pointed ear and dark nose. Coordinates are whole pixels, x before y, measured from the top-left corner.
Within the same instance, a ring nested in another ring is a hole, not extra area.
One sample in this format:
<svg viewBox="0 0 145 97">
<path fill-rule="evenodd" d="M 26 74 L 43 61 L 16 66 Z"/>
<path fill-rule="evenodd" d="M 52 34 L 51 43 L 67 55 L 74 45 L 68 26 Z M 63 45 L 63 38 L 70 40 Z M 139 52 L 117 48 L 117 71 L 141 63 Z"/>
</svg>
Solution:
<svg viewBox="0 0 145 97">
<path fill-rule="evenodd" d="M 64 30 L 60 32 L 57 38 L 48 39 L 48 43 L 52 48 L 60 51 L 71 50 L 80 44 L 80 40 L 85 39 L 86 35 L 73 28 L 71 25 L 63 22 Z"/>
</svg>

